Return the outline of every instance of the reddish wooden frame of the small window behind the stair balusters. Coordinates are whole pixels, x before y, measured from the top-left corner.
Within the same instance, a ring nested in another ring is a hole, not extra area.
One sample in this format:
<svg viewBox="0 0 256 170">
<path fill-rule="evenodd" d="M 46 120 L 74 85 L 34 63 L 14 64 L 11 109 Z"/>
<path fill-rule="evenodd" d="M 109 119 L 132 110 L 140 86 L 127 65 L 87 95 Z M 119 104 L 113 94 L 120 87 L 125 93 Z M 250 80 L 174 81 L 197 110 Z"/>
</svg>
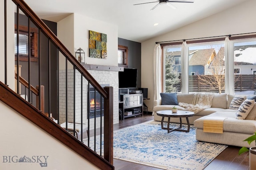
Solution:
<svg viewBox="0 0 256 170">
<path fill-rule="evenodd" d="M 14 25 L 14 31 L 17 31 L 17 25 Z M 19 25 L 19 32 L 28 35 L 28 27 L 24 25 Z M 38 29 L 30 27 L 30 37 L 33 40 L 33 47 L 30 51 L 30 59 L 32 62 L 38 61 Z M 15 60 L 17 60 L 17 55 L 15 54 Z M 19 61 L 28 61 L 28 55 L 19 54 Z"/>
</svg>

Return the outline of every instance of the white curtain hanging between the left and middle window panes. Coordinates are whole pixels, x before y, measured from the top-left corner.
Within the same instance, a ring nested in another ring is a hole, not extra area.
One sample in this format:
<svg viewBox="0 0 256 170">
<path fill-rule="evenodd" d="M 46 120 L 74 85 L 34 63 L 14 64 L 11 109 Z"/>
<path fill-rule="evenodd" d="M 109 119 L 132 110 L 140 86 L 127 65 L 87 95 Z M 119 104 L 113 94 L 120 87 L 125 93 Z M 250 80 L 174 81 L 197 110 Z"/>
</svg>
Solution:
<svg viewBox="0 0 256 170">
<path fill-rule="evenodd" d="M 186 41 L 183 41 L 181 47 L 181 93 L 188 93 L 188 49 Z"/>
</svg>

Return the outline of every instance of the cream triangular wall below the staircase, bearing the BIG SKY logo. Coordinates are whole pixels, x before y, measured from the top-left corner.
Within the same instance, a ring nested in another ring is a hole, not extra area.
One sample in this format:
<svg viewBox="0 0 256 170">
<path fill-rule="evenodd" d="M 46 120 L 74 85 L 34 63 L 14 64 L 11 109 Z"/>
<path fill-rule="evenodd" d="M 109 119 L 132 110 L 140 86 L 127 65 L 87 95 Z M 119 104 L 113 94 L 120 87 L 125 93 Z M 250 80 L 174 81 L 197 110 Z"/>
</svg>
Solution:
<svg viewBox="0 0 256 170">
<path fill-rule="evenodd" d="M 98 169 L 2 101 L 0 101 L 0 108 L 0 119 L 5 120 L 0 123 L 0 129 L 2 129 L 0 131 L 1 170 Z M 32 162 L 16 161 L 23 156 L 30 158 Z M 40 161 L 35 162 L 37 159 L 34 160 L 33 158 L 37 158 L 37 156 L 42 156 L 38 158 L 42 163 L 47 163 L 47 167 L 41 167 Z"/>
</svg>

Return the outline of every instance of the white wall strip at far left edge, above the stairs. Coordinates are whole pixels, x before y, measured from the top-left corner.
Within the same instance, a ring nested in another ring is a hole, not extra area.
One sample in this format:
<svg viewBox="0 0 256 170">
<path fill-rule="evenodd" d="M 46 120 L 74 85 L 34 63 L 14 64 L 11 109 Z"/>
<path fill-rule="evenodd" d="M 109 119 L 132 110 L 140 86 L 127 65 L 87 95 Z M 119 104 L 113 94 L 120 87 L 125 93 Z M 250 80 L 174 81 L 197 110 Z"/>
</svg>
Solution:
<svg viewBox="0 0 256 170">
<path fill-rule="evenodd" d="M 0 1 L 0 81 L 4 83 L 4 0 Z M 12 90 L 14 87 L 14 3 L 12 1 L 7 1 L 7 84 Z"/>
</svg>

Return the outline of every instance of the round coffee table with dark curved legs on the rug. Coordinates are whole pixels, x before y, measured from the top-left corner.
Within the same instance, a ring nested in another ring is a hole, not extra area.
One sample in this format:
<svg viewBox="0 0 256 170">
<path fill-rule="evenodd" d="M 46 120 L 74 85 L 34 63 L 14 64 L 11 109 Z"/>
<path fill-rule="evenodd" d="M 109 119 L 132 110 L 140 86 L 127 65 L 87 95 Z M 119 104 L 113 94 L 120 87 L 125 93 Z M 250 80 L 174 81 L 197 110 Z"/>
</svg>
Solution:
<svg viewBox="0 0 256 170">
<path fill-rule="evenodd" d="M 172 113 L 172 110 L 161 110 L 161 111 L 157 111 L 156 115 L 162 116 L 161 127 L 162 127 L 162 129 L 167 129 L 168 133 L 170 133 L 172 131 L 189 132 L 190 124 L 189 124 L 189 121 L 188 121 L 188 117 L 192 117 L 194 115 L 194 112 L 185 111 L 185 110 L 178 110 L 176 113 Z M 164 127 L 164 117 L 168 117 L 167 127 Z M 170 118 L 171 117 L 180 117 L 180 127 L 173 128 L 173 129 L 170 128 Z M 187 123 L 188 123 L 188 129 L 187 130 L 181 129 L 181 127 L 182 127 L 181 118 L 182 117 L 186 117 L 186 120 L 187 120 Z"/>
</svg>

